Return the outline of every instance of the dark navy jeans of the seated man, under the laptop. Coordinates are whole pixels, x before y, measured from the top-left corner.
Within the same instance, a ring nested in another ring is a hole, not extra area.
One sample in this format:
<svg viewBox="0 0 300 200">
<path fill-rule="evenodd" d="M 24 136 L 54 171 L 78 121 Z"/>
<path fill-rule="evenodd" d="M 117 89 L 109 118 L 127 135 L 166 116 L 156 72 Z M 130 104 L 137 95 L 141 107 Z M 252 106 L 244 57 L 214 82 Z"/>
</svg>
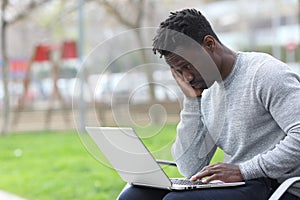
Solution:
<svg viewBox="0 0 300 200">
<path fill-rule="evenodd" d="M 189 191 L 170 191 L 139 186 L 130 186 L 124 190 L 119 200 L 267 200 L 274 189 L 267 178 L 246 181 L 246 185 L 228 188 L 199 189 Z M 299 198 L 286 193 L 281 200 Z"/>
</svg>

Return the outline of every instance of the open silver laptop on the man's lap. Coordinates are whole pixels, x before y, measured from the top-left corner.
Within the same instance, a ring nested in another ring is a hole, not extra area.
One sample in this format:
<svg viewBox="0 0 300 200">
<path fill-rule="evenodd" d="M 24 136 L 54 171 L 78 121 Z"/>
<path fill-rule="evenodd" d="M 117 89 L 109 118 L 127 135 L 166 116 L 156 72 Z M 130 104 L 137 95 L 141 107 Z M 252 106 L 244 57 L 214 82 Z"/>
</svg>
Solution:
<svg viewBox="0 0 300 200">
<path fill-rule="evenodd" d="M 205 184 L 184 178 L 169 178 L 132 128 L 86 127 L 86 130 L 120 177 L 131 185 L 191 190 L 245 184 L 222 181 Z"/>
</svg>

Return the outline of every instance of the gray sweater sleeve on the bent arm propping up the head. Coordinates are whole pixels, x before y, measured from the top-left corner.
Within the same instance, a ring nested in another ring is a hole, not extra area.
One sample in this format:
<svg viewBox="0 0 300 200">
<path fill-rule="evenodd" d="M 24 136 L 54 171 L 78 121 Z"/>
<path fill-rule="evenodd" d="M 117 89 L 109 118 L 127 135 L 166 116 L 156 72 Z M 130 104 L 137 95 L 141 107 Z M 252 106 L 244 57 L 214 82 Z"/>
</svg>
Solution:
<svg viewBox="0 0 300 200">
<path fill-rule="evenodd" d="M 209 163 L 216 145 L 201 119 L 201 98 L 185 97 L 180 117 L 172 154 L 180 173 L 191 177 Z"/>
</svg>

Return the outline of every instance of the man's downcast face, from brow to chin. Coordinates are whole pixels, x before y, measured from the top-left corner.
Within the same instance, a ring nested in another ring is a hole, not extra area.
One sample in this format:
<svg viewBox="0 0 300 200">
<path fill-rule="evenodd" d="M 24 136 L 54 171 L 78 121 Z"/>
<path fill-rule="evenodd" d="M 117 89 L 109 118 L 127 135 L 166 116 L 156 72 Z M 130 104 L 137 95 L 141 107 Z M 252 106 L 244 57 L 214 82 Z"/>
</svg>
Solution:
<svg viewBox="0 0 300 200">
<path fill-rule="evenodd" d="M 190 84 L 195 89 L 207 89 L 205 80 L 200 75 L 199 71 L 187 60 L 178 56 L 175 53 L 170 53 L 165 56 L 165 60 L 171 69 L 183 78 L 183 80 Z"/>
</svg>

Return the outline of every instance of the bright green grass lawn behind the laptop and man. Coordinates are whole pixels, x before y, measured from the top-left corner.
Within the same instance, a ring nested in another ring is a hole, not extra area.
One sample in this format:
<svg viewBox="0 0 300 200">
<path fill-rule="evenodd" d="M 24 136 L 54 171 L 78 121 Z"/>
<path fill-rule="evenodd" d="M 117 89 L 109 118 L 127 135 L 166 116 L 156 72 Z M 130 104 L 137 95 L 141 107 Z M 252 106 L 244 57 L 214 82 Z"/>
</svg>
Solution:
<svg viewBox="0 0 300 200">
<path fill-rule="evenodd" d="M 175 125 L 137 128 L 159 159 L 171 159 Z M 157 133 L 151 135 L 151 133 Z M 214 161 L 222 159 L 219 152 Z M 118 174 L 87 152 L 75 131 L 33 132 L 0 137 L 0 190 L 29 200 L 115 199 L 124 186 Z M 164 168 L 178 176 L 174 167 Z"/>
</svg>

